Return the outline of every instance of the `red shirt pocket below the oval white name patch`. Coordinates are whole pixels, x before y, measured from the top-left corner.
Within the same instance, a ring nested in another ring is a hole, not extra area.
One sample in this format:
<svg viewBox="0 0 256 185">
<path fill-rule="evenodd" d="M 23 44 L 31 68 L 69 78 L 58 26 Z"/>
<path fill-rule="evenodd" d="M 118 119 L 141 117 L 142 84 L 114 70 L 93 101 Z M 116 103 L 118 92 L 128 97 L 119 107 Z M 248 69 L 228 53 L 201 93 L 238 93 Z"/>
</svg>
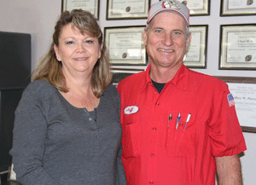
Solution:
<svg viewBox="0 0 256 185">
<path fill-rule="evenodd" d="M 133 121 L 131 115 L 125 115 L 122 137 L 123 157 L 136 158 L 141 150 L 142 125 Z"/>
</svg>

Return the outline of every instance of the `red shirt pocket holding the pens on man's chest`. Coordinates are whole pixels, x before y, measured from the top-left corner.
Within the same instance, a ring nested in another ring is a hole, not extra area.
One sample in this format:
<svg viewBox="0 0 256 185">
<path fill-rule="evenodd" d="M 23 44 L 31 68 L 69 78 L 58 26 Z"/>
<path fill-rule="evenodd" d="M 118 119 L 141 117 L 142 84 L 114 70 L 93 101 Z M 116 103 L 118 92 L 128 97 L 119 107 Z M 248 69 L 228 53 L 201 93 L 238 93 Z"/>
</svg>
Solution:
<svg viewBox="0 0 256 185">
<path fill-rule="evenodd" d="M 166 134 L 166 152 L 168 156 L 195 156 L 195 138 L 188 125 L 185 130 L 183 121 L 180 121 L 177 130 L 175 127 L 168 127 Z M 189 124 L 192 124 L 189 122 Z"/>
</svg>

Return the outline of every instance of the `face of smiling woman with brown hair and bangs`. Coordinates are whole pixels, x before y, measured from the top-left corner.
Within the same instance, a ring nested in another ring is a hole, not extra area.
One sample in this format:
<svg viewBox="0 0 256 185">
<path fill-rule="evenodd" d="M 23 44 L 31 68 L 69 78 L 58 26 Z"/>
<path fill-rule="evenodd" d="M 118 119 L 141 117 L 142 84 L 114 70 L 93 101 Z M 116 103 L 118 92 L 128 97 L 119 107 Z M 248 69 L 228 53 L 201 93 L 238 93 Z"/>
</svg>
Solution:
<svg viewBox="0 0 256 185">
<path fill-rule="evenodd" d="M 82 34 L 71 24 L 64 26 L 55 45 L 55 55 L 62 63 L 64 75 L 91 74 L 96 61 L 101 57 L 102 46 L 97 38 Z"/>
</svg>

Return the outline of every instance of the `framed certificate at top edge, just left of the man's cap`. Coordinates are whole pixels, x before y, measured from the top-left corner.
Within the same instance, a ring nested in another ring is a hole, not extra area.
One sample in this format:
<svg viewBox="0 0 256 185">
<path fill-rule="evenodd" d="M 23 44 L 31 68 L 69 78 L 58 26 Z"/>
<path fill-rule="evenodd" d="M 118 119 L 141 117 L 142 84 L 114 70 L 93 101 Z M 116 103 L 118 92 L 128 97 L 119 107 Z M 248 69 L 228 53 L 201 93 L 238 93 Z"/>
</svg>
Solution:
<svg viewBox="0 0 256 185">
<path fill-rule="evenodd" d="M 150 0 L 108 0 L 107 20 L 147 19 Z"/>
</svg>

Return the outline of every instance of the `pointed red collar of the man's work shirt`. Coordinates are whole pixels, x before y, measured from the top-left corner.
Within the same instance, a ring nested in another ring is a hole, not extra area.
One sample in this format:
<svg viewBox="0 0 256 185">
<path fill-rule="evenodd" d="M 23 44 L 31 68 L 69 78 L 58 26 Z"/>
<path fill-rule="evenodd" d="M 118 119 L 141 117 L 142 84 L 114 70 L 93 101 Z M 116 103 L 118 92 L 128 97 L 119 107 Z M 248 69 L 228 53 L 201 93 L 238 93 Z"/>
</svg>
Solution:
<svg viewBox="0 0 256 185">
<path fill-rule="evenodd" d="M 151 78 L 149 77 L 149 72 L 151 70 L 151 65 L 149 64 L 146 72 L 145 72 L 145 78 L 143 78 L 143 86 L 142 86 L 142 91 L 145 90 L 146 86 L 148 84 L 152 84 Z M 189 81 L 189 73 L 188 73 L 188 68 L 184 65 L 182 65 L 174 78 L 167 82 L 166 84 L 174 84 L 178 89 L 180 90 L 187 90 L 188 89 L 188 81 Z"/>
</svg>

